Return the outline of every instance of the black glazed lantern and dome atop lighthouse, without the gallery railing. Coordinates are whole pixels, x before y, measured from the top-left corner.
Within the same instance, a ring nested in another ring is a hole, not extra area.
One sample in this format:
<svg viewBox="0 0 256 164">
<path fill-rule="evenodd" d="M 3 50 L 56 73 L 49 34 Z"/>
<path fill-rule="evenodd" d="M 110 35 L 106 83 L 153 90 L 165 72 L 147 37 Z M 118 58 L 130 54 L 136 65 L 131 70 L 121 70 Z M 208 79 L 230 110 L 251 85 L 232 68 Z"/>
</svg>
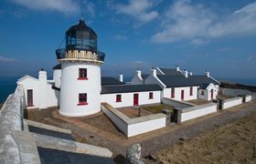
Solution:
<svg viewBox="0 0 256 164">
<path fill-rule="evenodd" d="M 66 49 L 97 51 L 97 35 L 82 18 L 66 32 Z"/>
</svg>

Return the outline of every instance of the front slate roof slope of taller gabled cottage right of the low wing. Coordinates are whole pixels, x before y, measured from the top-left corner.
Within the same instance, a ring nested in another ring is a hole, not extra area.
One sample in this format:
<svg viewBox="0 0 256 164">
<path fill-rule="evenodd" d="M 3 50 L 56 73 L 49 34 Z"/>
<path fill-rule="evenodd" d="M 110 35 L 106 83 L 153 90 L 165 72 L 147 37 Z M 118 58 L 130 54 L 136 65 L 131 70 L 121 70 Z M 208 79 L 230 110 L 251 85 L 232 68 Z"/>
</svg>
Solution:
<svg viewBox="0 0 256 164">
<path fill-rule="evenodd" d="M 157 77 L 166 87 L 192 87 L 201 85 L 201 82 L 193 81 L 190 77 L 184 77 L 183 75 L 165 75 Z"/>
</svg>

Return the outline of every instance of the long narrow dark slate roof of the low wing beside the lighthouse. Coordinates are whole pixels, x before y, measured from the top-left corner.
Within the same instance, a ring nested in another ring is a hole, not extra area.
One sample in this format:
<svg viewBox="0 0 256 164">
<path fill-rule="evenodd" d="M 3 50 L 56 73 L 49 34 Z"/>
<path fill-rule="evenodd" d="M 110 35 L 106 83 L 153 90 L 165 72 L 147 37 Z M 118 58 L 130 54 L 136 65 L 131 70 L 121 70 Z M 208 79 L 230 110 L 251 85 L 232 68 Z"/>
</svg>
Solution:
<svg viewBox="0 0 256 164">
<path fill-rule="evenodd" d="M 102 86 L 101 94 L 143 92 L 156 90 L 162 90 L 162 88 L 158 85 L 114 85 Z"/>
</svg>

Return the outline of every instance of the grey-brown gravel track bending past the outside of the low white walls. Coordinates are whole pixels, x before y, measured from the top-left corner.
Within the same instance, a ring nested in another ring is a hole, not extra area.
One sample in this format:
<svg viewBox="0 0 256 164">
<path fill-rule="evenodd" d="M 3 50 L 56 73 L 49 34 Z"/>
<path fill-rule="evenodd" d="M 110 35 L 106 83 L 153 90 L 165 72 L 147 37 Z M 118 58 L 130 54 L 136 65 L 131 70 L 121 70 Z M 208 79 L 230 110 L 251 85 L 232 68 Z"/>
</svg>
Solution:
<svg viewBox="0 0 256 164">
<path fill-rule="evenodd" d="M 161 129 L 150 133 L 147 133 L 144 140 L 139 142 L 142 145 L 142 156 L 146 157 L 149 154 L 155 154 L 157 150 L 169 148 L 176 143 L 180 143 L 181 140 L 187 140 L 189 138 L 196 137 L 208 130 L 213 130 L 219 128 L 222 125 L 226 125 L 230 122 L 234 122 L 239 118 L 244 118 L 250 116 L 251 113 L 256 112 L 256 101 L 251 101 L 249 103 L 243 104 L 236 108 L 230 108 L 224 111 L 219 111 L 219 114 L 214 117 L 207 118 L 197 118 L 192 121 L 184 122 L 180 125 L 172 124 L 168 128 L 176 128 L 176 130 L 170 130 L 169 132 L 161 135 Z M 48 109 L 47 109 L 48 110 Z M 40 110 L 41 111 L 41 110 Z M 61 128 L 69 128 L 73 131 L 73 136 L 77 141 L 86 142 L 88 144 L 96 145 L 111 149 L 114 156 L 118 154 L 123 154 L 125 156 L 126 146 L 118 143 L 117 141 L 108 140 L 97 134 L 93 134 L 88 130 L 78 128 L 70 123 L 63 122 L 52 118 L 48 110 L 48 114 L 37 113 L 34 114 L 34 118 L 40 122 L 45 122 L 47 124 L 55 125 Z M 29 117 L 28 117 L 29 118 Z M 39 119 L 40 118 L 40 119 Z M 192 122 L 192 123 L 191 123 Z M 157 134 L 155 138 L 150 138 L 151 135 Z M 129 142 L 128 142 L 129 141 Z M 136 143 L 136 138 L 127 139 L 127 143 Z M 146 163 L 151 162 L 146 160 Z"/>
</svg>

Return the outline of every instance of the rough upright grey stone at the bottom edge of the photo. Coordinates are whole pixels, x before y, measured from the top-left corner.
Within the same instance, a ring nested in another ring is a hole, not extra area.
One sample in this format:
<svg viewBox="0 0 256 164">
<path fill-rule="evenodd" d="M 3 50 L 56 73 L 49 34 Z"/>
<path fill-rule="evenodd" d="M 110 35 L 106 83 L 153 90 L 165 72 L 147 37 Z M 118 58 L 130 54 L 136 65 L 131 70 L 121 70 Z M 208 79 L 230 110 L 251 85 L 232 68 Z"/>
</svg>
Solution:
<svg viewBox="0 0 256 164">
<path fill-rule="evenodd" d="M 134 144 L 130 146 L 126 151 L 126 160 L 130 164 L 143 164 L 141 161 L 141 151 L 142 148 L 140 144 Z"/>
</svg>

